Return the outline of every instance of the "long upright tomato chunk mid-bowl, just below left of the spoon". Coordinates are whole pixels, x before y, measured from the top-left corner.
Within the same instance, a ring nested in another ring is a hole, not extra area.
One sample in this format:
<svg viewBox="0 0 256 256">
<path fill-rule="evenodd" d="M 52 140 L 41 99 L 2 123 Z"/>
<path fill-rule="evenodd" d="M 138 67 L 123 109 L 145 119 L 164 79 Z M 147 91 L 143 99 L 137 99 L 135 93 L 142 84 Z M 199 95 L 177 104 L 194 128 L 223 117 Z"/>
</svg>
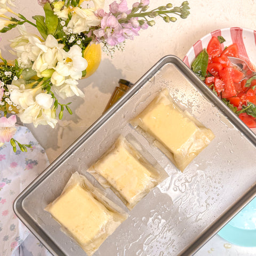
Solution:
<svg viewBox="0 0 256 256">
<path fill-rule="evenodd" d="M 220 78 L 225 83 L 225 87 L 221 93 L 222 98 L 230 98 L 236 95 L 234 82 L 231 78 L 230 68 L 220 70 Z"/>
</svg>

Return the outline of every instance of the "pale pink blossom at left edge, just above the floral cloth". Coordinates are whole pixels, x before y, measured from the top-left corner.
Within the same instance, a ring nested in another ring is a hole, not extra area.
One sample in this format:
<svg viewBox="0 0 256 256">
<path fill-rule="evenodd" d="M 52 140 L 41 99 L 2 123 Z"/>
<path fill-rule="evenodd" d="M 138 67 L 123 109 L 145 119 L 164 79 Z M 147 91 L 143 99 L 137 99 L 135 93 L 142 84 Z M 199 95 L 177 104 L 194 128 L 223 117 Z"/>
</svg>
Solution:
<svg viewBox="0 0 256 256">
<path fill-rule="evenodd" d="M 15 123 L 17 119 L 15 115 L 9 118 L 5 116 L 0 118 L 0 142 L 9 142 L 16 132 Z"/>
</svg>

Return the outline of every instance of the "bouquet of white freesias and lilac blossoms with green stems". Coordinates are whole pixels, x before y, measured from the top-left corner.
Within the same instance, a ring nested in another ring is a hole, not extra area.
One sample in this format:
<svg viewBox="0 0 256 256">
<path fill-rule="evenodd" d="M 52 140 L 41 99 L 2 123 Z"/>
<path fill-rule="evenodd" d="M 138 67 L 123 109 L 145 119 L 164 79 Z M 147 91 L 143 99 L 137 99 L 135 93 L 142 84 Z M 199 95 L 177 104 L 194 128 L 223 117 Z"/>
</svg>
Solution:
<svg viewBox="0 0 256 256">
<path fill-rule="evenodd" d="M 30 147 L 13 139 L 16 116 L 25 124 L 54 128 L 65 110 L 72 114 L 71 102 L 62 104 L 60 99 L 83 97 L 77 81 L 86 75 L 88 45 L 101 44 L 113 55 L 140 29 L 154 26 L 154 18 L 175 22 L 174 16 L 189 15 L 187 1 L 179 7 L 169 3 L 148 11 L 149 0 L 140 0 L 131 9 L 121 0 L 111 3 L 108 12 L 103 10 L 104 0 L 38 0 L 38 4 L 45 15 L 30 21 L 12 10 L 12 0 L 0 0 L 1 35 L 15 27 L 19 31 L 10 40 L 15 60 L 7 62 L 0 51 L 0 146 L 10 142 L 14 151 L 17 145 L 21 151 Z M 26 23 L 38 33 L 28 33 Z"/>
</svg>

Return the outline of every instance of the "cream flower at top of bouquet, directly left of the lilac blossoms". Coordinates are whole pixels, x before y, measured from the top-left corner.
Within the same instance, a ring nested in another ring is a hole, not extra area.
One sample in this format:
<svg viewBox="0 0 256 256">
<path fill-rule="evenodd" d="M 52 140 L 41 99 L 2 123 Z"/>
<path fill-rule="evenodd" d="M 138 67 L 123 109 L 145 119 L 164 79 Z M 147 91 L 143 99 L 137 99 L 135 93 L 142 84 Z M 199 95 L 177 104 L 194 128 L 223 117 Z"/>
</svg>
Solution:
<svg viewBox="0 0 256 256">
<path fill-rule="evenodd" d="M 90 27 L 98 26 L 100 19 L 95 16 L 94 9 L 73 8 L 73 15 L 68 22 L 68 28 L 73 29 L 74 33 L 88 31 Z"/>
</svg>

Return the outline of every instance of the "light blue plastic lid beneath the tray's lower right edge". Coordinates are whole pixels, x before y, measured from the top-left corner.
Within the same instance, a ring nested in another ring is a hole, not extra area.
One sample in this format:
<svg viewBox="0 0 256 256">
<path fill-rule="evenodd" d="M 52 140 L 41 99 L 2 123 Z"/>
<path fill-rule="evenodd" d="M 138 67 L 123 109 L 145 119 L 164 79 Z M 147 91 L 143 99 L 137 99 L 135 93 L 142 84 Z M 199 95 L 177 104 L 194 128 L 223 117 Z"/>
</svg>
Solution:
<svg viewBox="0 0 256 256">
<path fill-rule="evenodd" d="M 256 197 L 218 235 L 231 244 L 256 247 Z"/>
</svg>

